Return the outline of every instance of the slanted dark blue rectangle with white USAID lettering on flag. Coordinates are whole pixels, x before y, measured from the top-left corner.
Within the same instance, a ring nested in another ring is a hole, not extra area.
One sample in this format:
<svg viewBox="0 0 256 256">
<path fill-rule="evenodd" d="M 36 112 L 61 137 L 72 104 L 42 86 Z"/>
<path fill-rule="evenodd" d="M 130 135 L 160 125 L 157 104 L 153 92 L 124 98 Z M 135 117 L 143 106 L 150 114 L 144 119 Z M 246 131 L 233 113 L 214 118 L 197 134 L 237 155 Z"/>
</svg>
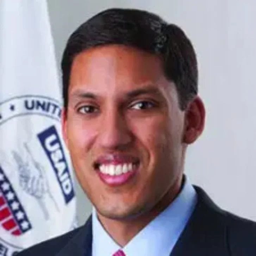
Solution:
<svg viewBox="0 0 256 256">
<path fill-rule="evenodd" d="M 37 136 L 51 162 L 56 178 L 61 186 L 65 202 L 68 204 L 74 197 L 74 191 L 58 133 L 55 127 L 51 126 Z"/>
</svg>

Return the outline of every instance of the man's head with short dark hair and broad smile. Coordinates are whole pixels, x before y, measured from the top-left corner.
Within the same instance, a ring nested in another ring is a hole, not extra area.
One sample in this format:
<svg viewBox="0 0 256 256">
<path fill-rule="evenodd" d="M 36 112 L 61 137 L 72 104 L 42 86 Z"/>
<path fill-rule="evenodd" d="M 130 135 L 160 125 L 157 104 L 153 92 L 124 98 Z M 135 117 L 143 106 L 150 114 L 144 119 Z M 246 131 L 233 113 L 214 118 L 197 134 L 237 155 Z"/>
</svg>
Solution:
<svg viewBox="0 0 256 256">
<path fill-rule="evenodd" d="M 132 218 L 175 196 L 204 126 L 183 31 L 145 11 L 107 10 L 70 36 L 62 71 L 64 139 L 99 214 Z"/>
</svg>

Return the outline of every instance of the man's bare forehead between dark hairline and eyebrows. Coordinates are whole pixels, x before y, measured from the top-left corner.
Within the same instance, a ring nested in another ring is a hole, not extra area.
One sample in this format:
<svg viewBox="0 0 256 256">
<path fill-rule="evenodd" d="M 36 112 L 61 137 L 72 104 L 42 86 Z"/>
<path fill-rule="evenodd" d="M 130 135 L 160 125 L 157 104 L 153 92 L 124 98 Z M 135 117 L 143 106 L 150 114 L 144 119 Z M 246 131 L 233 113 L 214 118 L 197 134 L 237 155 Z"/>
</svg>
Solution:
<svg viewBox="0 0 256 256">
<path fill-rule="evenodd" d="M 74 58 L 69 94 L 87 89 L 107 95 L 169 83 L 157 55 L 124 45 L 106 45 L 85 50 Z"/>
</svg>

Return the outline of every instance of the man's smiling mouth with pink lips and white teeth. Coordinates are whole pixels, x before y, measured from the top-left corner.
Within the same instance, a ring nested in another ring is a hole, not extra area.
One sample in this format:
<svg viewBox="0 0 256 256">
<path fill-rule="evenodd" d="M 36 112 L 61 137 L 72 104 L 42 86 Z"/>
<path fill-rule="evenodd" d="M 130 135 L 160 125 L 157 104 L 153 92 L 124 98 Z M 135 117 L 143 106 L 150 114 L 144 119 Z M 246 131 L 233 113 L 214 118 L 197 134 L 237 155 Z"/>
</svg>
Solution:
<svg viewBox="0 0 256 256">
<path fill-rule="evenodd" d="M 101 181 L 110 186 L 124 185 L 136 174 L 139 169 L 138 158 L 127 156 L 111 156 L 99 159 L 94 169 Z"/>
</svg>

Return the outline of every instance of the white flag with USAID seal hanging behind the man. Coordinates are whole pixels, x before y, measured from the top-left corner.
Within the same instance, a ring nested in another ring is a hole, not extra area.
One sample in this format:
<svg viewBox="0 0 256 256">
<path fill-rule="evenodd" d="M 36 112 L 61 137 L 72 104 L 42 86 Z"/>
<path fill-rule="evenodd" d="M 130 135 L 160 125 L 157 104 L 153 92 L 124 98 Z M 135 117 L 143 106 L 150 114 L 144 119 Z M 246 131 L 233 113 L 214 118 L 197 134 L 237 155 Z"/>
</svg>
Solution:
<svg viewBox="0 0 256 256">
<path fill-rule="evenodd" d="M 0 255 L 73 228 L 46 1 L 0 1 Z"/>
</svg>

